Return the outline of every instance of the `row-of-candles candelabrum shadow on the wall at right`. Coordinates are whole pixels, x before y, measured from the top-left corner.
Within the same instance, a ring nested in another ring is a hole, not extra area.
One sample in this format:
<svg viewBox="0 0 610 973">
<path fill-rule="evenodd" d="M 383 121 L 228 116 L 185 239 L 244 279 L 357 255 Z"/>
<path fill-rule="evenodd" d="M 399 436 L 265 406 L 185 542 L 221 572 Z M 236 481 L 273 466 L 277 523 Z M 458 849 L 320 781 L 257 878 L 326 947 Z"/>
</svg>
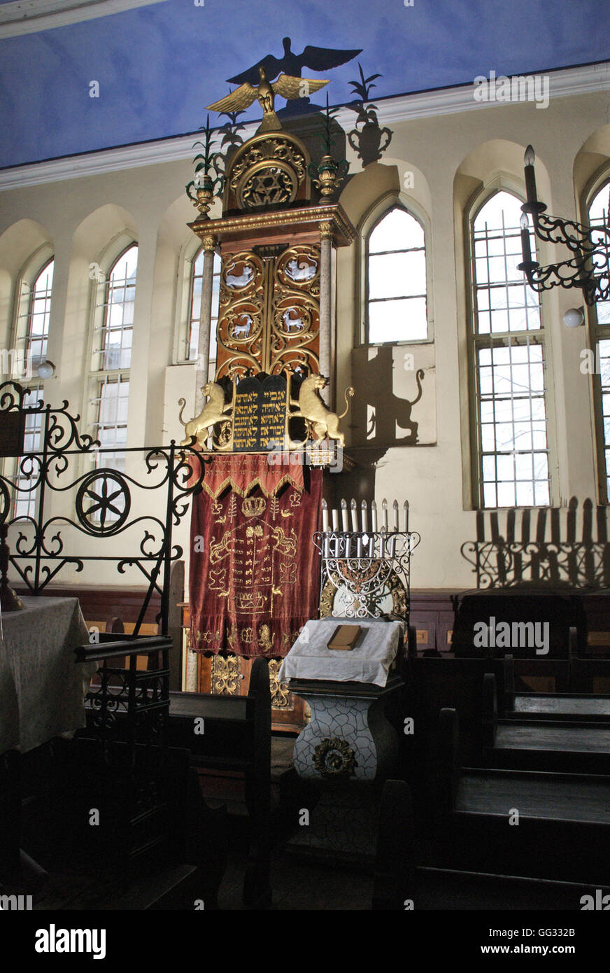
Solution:
<svg viewBox="0 0 610 973">
<path fill-rule="evenodd" d="M 580 512 L 576 497 L 567 508 L 479 511 L 477 540 L 460 550 L 477 588 L 610 588 L 608 507 L 589 497 Z"/>
</svg>

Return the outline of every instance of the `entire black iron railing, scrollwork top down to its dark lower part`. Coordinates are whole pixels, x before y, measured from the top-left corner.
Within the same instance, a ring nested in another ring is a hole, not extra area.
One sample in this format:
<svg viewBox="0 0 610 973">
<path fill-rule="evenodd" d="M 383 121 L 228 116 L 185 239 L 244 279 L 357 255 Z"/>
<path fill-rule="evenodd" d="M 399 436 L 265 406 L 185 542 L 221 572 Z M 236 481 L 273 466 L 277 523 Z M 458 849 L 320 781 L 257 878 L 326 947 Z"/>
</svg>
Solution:
<svg viewBox="0 0 610 973">
<path fill-rule="evenodd" d="M 175 831 L 175 755 L 164 731 L 172 648 L 169 574 L 183 550 L 173 543 L 172 530 L 200 488 L 205 460 L 173 441 L 102 448 L 79 432 L 78 422 L 67 402 L 59 408 L 31 404 L 30 390 L 13 381 L 0 385 L 0 449 L 6 457 L 0 525 L 9 530 L 10 563 L 33 595 L 45 593 L 67 566 L 81 572 L 86 565 L 114 563 L 119 573 L 134 569 L 146 580 L 132 633 L 98 632 L 92 644 L 76 649 L 76 662 L 97 666 L 86 699 L 87 728 L 71 741 L 86 747 L 79 765 L 79 780 L 86 775 L 87 781 L 82 800 L 102 809 L 106 822 L 104 840 L 90 842 L 88 854 L 98 855 L 96 868 L 123 868 L 126 861 L 161 853 Z M 40 428 L 39 441 L 35 450 L 23 451 L 28 424 L 30 442 L 32 426 Z M 108 454 L 118 453 L 125 470 L 104 465 Z M 35 501 L 24 505 L 27 513 L 14 505 L 23 496 Z M 143 636 L 155 594 L 161 596 L 159 634 Z M 145 668 L 138 666 L 142 657 Z"/>
</svg>

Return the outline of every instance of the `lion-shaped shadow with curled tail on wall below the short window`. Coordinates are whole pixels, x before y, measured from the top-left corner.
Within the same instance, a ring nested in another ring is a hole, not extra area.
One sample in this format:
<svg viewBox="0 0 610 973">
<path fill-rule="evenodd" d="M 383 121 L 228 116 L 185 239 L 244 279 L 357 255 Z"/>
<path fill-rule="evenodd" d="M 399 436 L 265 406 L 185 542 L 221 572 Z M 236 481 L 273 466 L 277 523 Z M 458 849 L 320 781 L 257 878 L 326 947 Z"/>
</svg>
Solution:
<svg viewBox="0 0 610 973">
<path fill-rule="evenodd" d="M 416 388 L 412 401 L 394 393 L 394 354 L 392 346 L 380 346 L 369 359 L 368 348 L 359 348 L 352 359 L 352 376 L 356 388 L 352 400 L 350 426 L 354 444 L 370 447 L 415 446 L 419 442 L 418 422 L 413 418 L 424 394 L 424 370 L 413 373 Z M 413 381 L 413 376 L 411 380 Z"/>
</svg>

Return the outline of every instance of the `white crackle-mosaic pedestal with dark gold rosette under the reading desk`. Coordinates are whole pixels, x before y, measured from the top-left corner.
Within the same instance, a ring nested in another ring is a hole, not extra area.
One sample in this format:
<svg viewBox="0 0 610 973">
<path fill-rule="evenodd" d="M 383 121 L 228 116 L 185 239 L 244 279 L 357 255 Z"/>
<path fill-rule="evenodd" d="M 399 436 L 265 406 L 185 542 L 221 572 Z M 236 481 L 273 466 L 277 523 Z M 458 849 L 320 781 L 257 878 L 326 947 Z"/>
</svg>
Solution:
<svg viewBox="0 0 610 973">
<path fill-rule="evenodd" d="M 384 687 L 291 680 L 291 692 L 311 708 L 311 720 L 295 742 L 295 770 L 320 785 L 319 801 L 308 820 L 302 815 L 290 843 L 294 849 L 375 854 L 380 786 L 398 757 L 398 738 L 383 704 L 401 685 L 397 677 Z"/>
</svg>

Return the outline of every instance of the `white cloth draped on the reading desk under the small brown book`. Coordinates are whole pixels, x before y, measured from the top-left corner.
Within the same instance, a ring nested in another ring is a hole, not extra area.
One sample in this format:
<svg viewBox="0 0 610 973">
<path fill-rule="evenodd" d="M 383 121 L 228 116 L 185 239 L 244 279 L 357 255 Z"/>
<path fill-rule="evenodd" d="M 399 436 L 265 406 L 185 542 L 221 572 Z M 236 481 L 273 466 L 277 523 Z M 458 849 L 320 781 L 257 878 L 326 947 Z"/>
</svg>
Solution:
<svg viewBox="0 0 610 973">
<path fill-rule="evenodd" d="M 328 648 L 328 642 L 338 625 L 359 625 L 363 629 L 353 649 Z M 279 679 L 281 682 L 288 679 L 331 679 L 385 686 L 403 631 L 402 622 L 384 622 L 373 618 L 311 620 L 284 659 Z"/>
</svg>

